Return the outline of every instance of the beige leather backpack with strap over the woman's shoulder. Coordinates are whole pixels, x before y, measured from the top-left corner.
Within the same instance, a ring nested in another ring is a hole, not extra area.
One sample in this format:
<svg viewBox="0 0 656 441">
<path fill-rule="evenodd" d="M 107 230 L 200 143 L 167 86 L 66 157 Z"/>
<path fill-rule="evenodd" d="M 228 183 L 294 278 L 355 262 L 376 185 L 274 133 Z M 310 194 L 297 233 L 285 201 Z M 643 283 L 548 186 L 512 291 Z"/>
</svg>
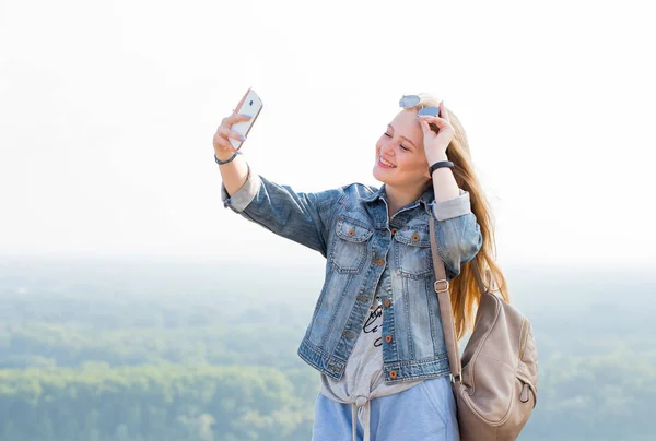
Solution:
<svg viewBox="0 0 656 441">
<path fill-rule="evenodd" d="M 481 300 L 473 332 L 460 360 L 448 281 L 444 262 L 436 252 L 432 216 L 431 249 L 460 440 L 514 440 L 537 401 L 538 354 L 530 322 L 508 302 L 484 288 L 476 260 L 472 260 Z M 438 283 L 442 284 L 441 289 Z"/>
</svg>

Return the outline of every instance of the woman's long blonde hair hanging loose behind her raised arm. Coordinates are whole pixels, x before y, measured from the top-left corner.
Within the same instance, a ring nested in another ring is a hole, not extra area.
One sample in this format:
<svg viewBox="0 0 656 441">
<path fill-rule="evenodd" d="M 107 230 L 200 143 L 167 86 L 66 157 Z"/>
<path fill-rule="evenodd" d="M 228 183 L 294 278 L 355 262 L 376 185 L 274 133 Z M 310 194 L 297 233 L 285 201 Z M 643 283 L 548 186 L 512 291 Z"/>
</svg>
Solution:
<svg viewBox="0 0 656 441">
<path fill-rule="evenodd" d="M 421 98 L 417 108 L 426 106 L 438 106 L 440 102 L 431 94 L 418 94 Z M 496 242 L 494 237 L 494 221 L 492 210 L 483 193 L 483 189 L 476 177 L 473 163 L 467 142 L 467 134 L 462 124 L 453 111 L 447 109 L 448 119 L 455 129 L 446 155 L 454 163 L 454 177 L 459 188 L 469 192 L 471 201 L 471 211 L 480 226 L 483 243 L 480 251 L 473 257 L 472 261 L 461 266 L 460 274 L 449 282 L 449 291 L 454 321 L 456 325 L 456 335 L 460 339 L 468 331 L 473 330 L 476 319 L 476 308 L 480 301 L 480 288 L 475 275 L 475 265 L 478 267 L 480 279 L 485 283 L 484 289 L 489 291 L 499 291 L 505 301 L 509 301 L 506 281 L 500 266 L 496 264 Z M 481 272 L 485 272 L 483 277 Z M 493 285 L 492 285 L 493 284 Z M 496 288 L 494 288 L 496 287 Z"/>
</svg>

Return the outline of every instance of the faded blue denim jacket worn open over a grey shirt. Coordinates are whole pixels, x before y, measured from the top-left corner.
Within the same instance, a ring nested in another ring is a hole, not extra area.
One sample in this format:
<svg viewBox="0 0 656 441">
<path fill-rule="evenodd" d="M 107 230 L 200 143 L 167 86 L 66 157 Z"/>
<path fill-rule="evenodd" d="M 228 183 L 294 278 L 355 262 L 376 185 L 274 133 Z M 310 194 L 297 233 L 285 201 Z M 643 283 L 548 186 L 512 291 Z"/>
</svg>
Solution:
<svg viewBox="0 0 656 441">
<path fill-rule="evenodd" d="M 482 245 L 467 191 L 435 202 L 429 186 L 419 200 L 389 218 L 385 184 L 295 192 L 249 166 L 244 186 L 230 196 L 222 184 L 221 196 L 225 207 L 326 258 L 326 279 L 298 347 L 303 360 L 341 379 L 387 262 L 391 296 L 382 298 L 385 382 L 449 373 L 433 289 L 429 216 L 435 216 L 437 254 L 450 281 Z"/>
</svg>

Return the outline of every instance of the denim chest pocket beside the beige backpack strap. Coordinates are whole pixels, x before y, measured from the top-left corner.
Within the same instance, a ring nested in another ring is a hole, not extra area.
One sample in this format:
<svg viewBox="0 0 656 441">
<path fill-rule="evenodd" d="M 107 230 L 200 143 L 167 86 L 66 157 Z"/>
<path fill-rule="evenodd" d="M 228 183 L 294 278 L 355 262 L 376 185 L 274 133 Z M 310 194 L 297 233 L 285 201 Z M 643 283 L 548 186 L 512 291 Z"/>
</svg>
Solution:
<svg viewBox="0 0 656 441">
<path fill-rule="evenodd" d="M 401 276 L 423 278 L 433 274 L 431 237 L 423 228 L 403 228 L 395 235 L 396 263 Z"/>
</svg>

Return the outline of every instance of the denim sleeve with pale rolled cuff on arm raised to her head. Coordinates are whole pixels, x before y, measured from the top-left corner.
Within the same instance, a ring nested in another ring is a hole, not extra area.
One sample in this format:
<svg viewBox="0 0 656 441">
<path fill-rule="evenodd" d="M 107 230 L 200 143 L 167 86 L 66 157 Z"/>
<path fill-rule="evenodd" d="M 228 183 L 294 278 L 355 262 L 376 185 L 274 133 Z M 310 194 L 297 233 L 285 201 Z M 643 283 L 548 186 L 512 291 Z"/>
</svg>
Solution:
<svg viewBox="0 0 656 441">
<path fill-rule="evenodd" d="M 444 262 L 447 277 L 460 274 L 460 266 L 473 259 L 483 245 L 480 225 L 471 211 L 469 192 L 460 189 L 460 195 L 433 201 L 432 213 L 437 221 L 437 254 Z"/>
</svg>

